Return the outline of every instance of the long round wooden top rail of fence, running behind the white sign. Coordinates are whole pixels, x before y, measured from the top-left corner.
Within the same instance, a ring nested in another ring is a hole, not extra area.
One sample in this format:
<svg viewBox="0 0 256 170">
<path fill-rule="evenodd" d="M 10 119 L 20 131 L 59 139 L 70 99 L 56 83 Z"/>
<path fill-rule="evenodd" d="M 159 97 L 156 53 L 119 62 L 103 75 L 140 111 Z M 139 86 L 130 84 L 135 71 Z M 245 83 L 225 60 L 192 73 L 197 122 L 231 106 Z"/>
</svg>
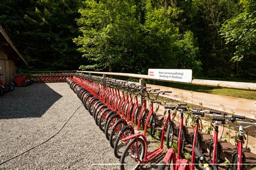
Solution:
<svg viewBox="0 0 256 170">
<path fill-rule="evenodd" d="M 256 91 L 256 83 L 217 81 L 217 80 L 201 80 L 201 79 L 193 79 L 191 83 L 185 83 L 185 82 L 174 82 L 174 81 L 168 81 L 168 80 L 150 79 L 145 74 L 90 72 L 90 71 L 77 71 L 77 72 L 78 73 L 91 73 L 91 74 L 103 74 L 103 75 L 133 77 L 133 78 L 144 79 L 144 80 L 147 79 L 147 80 L 155 80 L 155 81 L 165 81 L 165 82 L 173 82 L 173 83 L 180 83 L 180 84 L 191 84 L 191 85 L 196 85 L 196 86 L 206 86 L 206 87 L 215 87 L 215 88 L 227 88 L 227 89 Z"/>
</svg>

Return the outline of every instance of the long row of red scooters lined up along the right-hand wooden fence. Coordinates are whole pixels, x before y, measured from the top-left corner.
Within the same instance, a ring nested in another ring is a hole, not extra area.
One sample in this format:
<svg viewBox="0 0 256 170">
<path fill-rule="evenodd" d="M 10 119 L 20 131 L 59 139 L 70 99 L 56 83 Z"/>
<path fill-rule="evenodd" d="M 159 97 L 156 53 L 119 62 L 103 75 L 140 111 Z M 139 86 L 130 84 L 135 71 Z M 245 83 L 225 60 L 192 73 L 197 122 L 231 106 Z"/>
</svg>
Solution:
<svg viewBox="0 0 256 170">
<path fill-rule="evenodd" d="M 228 116 L 218 111 L 191 109 L 186 103 L 159 102 L 157 101 L 159 94 L 164 95 L 171 91 L 150 89 L 126 81 L 83 74 L 75 74 L 72 79 L 68 78 L 66 81 L 93 116 L 99 129 L 105 133 L 114 155 L 120 159 L 121 169 L 139 168 L 152 163 L 164 152 L 164 141 L 169 150 L 159 164 L 160 169 L 195 169 L 195 165 L 202 169 L 216 169 L 220 154 L 218 125 L 227 122 L 239 124 L 238 148 L 233 154 L 232 166 L 237 169 L 243 168 L 245 156 L 242 154 L 242 137 L 244 135 L 242 128 L 255 126 L 255 123 L 239 121 L 239 119 L 244 119 L 244 116 Z M 138 97 L 142 97 L 142 105 L 139 104 Z M 146 107 L 147 100 L 150 101 L 149 109 Z M 165 119 L 162 124 L 157 124 L 159 121 L 156 121 L 158 116 L 153 109 L 154 103 L 164 105 Z M 179 112 L 178 126 L 173 123 L 174 111 Z M 186 141 L 183 123 L 186 111 L 191 111 L 196 117 L 191 160 L 181 158 Z M 214 140 L 210 147 L 210 160 L 207 161 L 200 151 L 201 138 L 198 132 L 200 116 L 211 118 L 215 125 Z M 247 126 L 242 126 L 242 124 L 247 124 Z M 152 152 L 147 152 L 149 147 L 147 129 L 151 136 L 154 136 L 157 130 L 161 134 L 160 146 Z M 177 153 L 171 148 L 174 129 L 178 130 Z M 140 130 L 144 130 L 143 133 Z"/>
</svg>

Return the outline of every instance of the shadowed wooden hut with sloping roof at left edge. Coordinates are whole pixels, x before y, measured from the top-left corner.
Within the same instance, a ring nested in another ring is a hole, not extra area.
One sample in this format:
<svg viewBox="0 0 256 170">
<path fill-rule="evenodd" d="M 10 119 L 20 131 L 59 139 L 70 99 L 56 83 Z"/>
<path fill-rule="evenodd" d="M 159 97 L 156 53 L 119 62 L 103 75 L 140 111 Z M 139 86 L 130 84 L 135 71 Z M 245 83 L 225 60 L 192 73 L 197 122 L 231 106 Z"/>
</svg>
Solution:
<svg viewBox="0 0 256 170">
<path fill-rule="evenodd" d="M 14 80 L 19 65 L 28 66 L 28 63 L 0 26 L 0 79 L 3 83 Z"/>
</svg>

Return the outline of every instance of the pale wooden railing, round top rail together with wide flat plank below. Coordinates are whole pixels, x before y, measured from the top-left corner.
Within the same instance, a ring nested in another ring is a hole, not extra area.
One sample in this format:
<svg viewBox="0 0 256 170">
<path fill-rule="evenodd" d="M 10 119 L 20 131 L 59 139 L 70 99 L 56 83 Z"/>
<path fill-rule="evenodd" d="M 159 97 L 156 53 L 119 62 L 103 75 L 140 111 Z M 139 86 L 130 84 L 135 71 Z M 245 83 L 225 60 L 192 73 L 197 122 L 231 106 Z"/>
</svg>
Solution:
<svg viewBox="0 0 256 170">
<path fill-rule="evenodd" d="M 162 81 L 158 79 L 149 79 L 147 75 L 142 74 L 129 74 L 129 73 L 110 73 L 110 72 L 90 72 L 90 71 L 77 71 L 78 73 L 88 74 L 101 74 L 103 77 L 106 75 L 133 77 L 140 79 L 140 84 L 146 85 L 152 88 L 160 88 L 161 90 L 171 90 L 172 94 L 164 95 L 163 97 L 171 98 L 173 100 L 183 101 L 201 107 L 219 110 L 235 115 L 243 115 L 247 118 L 256 119 L 256 102 L 254 100 L 248 100 L 244 98 L 229 97 L 222 95 L 199 93 L 196 91 L 182 90 L 171 87 L 156 86 L 153 84 L 145 84 L 145 79 Z M 164 80 L 166 81 L 166 80 Z M 173 81 L 167 81 L 173 82 Z M 183 83 L 183 82 L 176 82 Z M 215 88 L 228 88 L 239 90 L 251 90 L 256 91 L 256 83 L 244 83 L 244 82 L 228 82 L 228 81 L 215 81 L 215 80 L 199 80 L 194 79 L 191 83 L 197 86 L 207 86 Z"/>
</svg>

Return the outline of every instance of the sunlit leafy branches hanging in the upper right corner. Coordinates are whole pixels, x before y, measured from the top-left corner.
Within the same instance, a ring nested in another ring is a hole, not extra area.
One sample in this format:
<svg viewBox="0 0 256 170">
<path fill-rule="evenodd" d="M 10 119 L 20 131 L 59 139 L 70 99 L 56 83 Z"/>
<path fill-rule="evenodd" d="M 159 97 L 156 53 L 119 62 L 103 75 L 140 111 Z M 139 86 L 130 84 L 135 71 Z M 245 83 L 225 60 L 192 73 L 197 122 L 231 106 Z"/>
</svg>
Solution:
<svg viewBox="0 0 256 170">
<path fill-rule="evenodd" d="M 255 57 L 256 44 L 256 9 L 254 0 L 241 1 L 244 12 L 238 16 L 226 20 L 221 27 L 221 35 L 226 44 L 233 43 L 235 53 L 232 61 L 239 62 L 245 57 Z"/>
</svg>

